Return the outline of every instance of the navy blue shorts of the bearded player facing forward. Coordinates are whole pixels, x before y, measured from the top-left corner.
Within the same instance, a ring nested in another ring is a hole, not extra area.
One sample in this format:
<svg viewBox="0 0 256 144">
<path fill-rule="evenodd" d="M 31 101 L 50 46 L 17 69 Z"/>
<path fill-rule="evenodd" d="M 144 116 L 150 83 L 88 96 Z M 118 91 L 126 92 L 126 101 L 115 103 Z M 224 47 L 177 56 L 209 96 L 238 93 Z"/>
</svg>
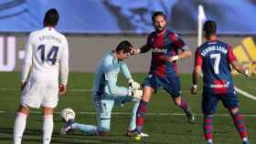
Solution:
<svg viewBox="0 0 256 144">
<path fill-rule="evenodd" d="M 149 74 L 144 80 L 144 87 L 153 87 L 155 92 L 161 86 L 172 97 L 177 98 L 181 96 L 179 77 L 158 77 Z"/>
</svg>

